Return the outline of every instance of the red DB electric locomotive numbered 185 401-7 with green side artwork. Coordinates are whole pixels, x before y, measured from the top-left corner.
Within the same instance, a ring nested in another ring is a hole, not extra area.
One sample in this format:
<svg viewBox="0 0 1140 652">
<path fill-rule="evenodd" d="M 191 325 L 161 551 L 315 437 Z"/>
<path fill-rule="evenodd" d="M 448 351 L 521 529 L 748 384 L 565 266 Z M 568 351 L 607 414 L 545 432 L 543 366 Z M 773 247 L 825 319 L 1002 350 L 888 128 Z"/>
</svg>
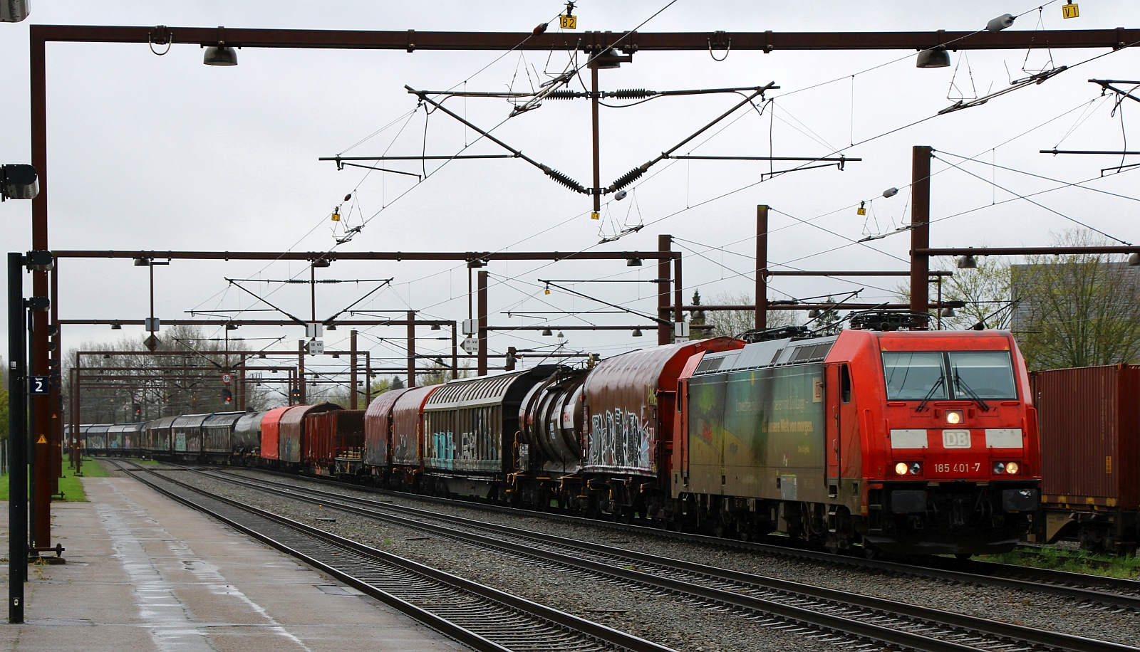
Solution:
<svg viewBox="0 0 1140 652">
<path fill-rule="evenodd" d="M 686 522 L 831 549 L 1012 548 L 1039 504 L 1025 362 L 1007 332 L 879 332 L 705 353 L 681 377 Z"/>
</svg>

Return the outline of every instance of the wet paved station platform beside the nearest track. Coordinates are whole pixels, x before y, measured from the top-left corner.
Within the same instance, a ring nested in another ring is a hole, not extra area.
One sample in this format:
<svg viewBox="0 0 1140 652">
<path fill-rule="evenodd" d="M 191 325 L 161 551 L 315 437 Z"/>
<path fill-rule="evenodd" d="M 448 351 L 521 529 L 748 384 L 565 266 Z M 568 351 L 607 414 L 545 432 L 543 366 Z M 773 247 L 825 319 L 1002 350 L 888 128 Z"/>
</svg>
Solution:
<svg viewBox="0 0 1140 652">
<path fill-rule="evenodd" d="M 83 479 L 89 503 L 54 503 L 65 564 L 32 564 L 19 652 L 439 651 L 467 647 L 156 494 L 130 478 Z M 2 556 L 8 503 L 0 503 Z M 5 604 L 8 563 L 3 563 Z"/>
</svg>

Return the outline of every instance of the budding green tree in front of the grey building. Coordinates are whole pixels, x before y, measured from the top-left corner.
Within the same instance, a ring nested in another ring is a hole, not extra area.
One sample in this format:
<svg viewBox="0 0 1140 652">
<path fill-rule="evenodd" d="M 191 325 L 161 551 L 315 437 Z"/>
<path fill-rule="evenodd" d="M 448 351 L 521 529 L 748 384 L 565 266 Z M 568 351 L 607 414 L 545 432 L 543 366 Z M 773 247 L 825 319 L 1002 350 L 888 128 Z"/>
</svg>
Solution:
<svg viewBox="0 0 1140 652">
<path fill-rule="evenodd" d="M 1057 246 L 1109 244 L 1081 231 Z M 1013 266 L 1013 331 L 1032 369 L 1140 359 L 1140 268 L 1096 253 L 1026 256 Z"/>
</svg>

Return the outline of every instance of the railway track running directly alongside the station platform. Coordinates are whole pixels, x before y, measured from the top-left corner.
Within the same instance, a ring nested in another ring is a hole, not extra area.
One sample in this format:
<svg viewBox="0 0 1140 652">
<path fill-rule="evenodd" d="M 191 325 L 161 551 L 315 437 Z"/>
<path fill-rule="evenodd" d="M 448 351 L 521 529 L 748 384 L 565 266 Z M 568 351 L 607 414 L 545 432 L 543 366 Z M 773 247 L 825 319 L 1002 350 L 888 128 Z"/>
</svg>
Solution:
<svg viewBox="0 0 1140 652">
<path fill-rule="evenodd" d="M 246 532 L 412 618 L 488 652 L 669 649 L 202 491 L 158 470 L 112 462 L 155 490 Z"/>
</svg>

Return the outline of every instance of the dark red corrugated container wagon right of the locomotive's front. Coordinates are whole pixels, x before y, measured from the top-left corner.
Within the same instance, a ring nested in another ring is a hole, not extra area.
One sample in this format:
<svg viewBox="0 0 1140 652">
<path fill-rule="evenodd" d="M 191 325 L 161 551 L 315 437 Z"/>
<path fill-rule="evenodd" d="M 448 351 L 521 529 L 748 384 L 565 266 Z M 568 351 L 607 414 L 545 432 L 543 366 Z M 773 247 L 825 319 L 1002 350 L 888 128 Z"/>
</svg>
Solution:
<svg viewBox="0 0 1140 652">
<path fill-rule="evenodd" d="M 1041 421 L 1045 541 L 1093 551 L 1140 543 L 1140 366 L 1031 375 Z"/>
</svg>

